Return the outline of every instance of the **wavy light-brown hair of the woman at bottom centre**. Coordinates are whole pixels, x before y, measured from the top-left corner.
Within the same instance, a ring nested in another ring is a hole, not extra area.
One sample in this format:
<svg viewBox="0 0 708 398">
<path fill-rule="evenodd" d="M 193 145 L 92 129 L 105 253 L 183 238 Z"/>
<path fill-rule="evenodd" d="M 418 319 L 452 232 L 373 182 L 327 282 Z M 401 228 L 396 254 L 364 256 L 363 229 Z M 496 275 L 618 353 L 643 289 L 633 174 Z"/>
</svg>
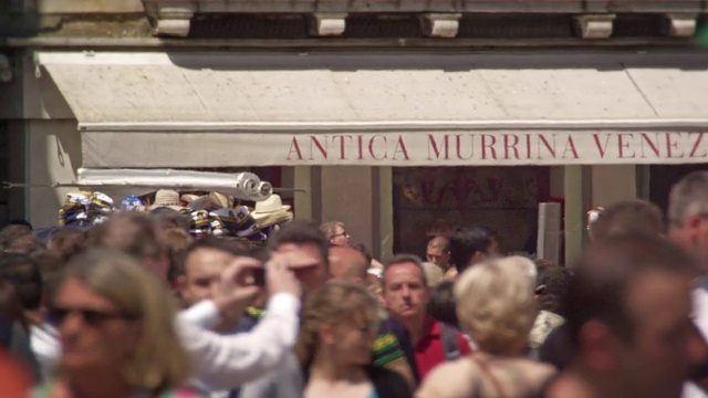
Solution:
<svg viewBox="0 0 708 398">
<path fill-rule="evenodd" d="M 320 345 L 320 326 L 341 325 L 364 316 L 371 326 L 379 322 L 378 303 L 366 287 L 351 282 L 327 283 L 315 291 L 302 310 L 295 345 L 303 368 L 309 368 Z"/>
</svg>

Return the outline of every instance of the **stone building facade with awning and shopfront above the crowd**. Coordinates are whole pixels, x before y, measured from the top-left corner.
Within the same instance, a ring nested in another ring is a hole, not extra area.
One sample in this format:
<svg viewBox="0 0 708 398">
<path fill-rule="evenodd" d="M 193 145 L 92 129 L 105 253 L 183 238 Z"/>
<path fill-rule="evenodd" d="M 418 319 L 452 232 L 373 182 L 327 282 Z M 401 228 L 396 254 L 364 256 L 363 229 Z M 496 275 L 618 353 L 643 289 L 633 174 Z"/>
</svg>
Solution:
<svg viewBox="0 0 708 398">
<path fill-rule="evenodd" d="M 0 217 L 80 168 L 251 169 L 386 259 L 442 219 L 533 251 L 538 205 L 643 197 L 708 157 L 707 0 L 11 0 Z M 706 154 L 704 156 L 704 154 Z M 674 166 L 684 165 L 684 166 Z M 122 195 L 124 192 L 115 192 Z M 121 198 L 118 198 L 119 200 Z"/>
</svg>

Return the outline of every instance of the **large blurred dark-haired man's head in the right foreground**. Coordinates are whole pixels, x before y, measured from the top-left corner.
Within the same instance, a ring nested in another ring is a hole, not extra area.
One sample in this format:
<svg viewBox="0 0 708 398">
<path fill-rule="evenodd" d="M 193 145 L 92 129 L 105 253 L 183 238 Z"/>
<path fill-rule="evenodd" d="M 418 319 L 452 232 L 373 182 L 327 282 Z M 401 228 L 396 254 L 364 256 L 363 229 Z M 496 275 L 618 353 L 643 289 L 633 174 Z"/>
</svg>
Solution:
<svg viewBox="0 0 708 398">
<path fill-rule="evenodd" d="M 678 397 L 706 359 L 690 320 L 694 260 L 669 241 L 637 234 L 586 250 L 566 297 L 576 363 L 615 396 Z"/>
</svg>

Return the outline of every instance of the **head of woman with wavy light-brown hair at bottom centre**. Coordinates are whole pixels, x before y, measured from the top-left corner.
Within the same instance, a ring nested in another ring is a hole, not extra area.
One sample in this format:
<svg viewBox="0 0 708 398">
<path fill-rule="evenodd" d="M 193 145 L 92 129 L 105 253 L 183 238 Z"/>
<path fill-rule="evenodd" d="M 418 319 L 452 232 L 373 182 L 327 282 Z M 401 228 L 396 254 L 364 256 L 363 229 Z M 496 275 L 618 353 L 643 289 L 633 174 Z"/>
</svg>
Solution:
<svg viewBox="0 0 708 398">
<path fill-rule="evenodd" d="M 303 368 L 322 356 L 339 366 L 371 363 L 371 347 L 378 329 L 376 300 L 360 284 L 327 283 L 308 297 L 296 352 Z"/>
</svg>

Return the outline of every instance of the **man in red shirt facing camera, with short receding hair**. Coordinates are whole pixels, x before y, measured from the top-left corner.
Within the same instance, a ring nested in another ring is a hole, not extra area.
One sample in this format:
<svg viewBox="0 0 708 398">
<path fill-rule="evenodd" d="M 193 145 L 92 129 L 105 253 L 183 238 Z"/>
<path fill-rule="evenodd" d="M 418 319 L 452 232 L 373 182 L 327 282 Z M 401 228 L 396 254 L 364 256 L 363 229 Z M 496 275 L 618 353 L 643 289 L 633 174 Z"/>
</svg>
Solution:
<svg viewBox="0 0 708 398">
<path fill-rule="evenodd" d="M 430 291 L 420 259 L 396 255 L 384 268 L 383 277 L 386 308 L 410 333 L 420 380 L 436 365 L 470 352 L 467 339 L 454 326 L 426 314 Z"/>
</svg>

